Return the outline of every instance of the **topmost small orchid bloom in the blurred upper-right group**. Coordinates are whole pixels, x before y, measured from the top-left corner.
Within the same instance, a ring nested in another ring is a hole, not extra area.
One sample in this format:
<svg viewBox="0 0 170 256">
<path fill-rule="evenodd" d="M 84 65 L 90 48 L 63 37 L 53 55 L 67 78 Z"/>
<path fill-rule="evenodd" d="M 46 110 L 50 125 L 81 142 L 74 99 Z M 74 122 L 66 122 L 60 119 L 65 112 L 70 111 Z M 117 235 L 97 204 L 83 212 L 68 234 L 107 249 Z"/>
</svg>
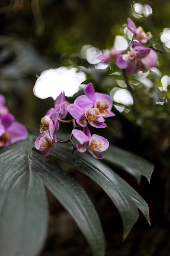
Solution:
<svg viewBox="0 0 170 256">
<path fill-rule="evenodd" d="M 147 43 L 148 40 L 152 38 L 151 32 L 145 33 L 142 27 L 136 28 L 135 23 L 131 18 L 128 18 L 128 24 L 126 24 L 126 27 L 133 33 L 133 40 L 136 39 L 142 44 Z"/>
</svg>

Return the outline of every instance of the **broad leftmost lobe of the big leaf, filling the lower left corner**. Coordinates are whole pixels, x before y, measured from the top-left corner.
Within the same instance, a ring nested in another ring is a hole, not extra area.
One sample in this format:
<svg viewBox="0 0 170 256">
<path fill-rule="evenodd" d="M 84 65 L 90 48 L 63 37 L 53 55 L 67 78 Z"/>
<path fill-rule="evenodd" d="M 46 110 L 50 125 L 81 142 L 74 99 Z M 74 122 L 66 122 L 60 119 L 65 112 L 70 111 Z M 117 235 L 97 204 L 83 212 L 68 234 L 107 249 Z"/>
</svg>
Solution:
<svg viewBox="0 0 170 256">
<path fill-rule="evenodd" d="M 48 206 L 44 185 L 29 160 L 32 140 L 0 151 L 0 255 L 32 256 L 45 240 Z"/>
</svg>

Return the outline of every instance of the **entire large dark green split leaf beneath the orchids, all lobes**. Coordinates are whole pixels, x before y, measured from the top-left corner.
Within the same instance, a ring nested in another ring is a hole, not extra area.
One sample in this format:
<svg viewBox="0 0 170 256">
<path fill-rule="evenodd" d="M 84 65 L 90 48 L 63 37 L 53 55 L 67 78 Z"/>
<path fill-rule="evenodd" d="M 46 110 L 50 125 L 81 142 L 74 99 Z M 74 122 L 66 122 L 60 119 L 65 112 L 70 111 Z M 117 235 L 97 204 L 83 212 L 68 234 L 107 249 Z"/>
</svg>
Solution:
<svg viewBox="0 0 170 256">
<path fill-rule="evenodd" d="M 48 223 L 44 185 L 74 218 L 94 256 L 104 255 L 102 227 L 88 195 L 72 176 L 48 158 L 41 158 L 32 147 L 33 138 L 29 137 L 0 150 L 0 255 L 34 256 L 42 248 Z M 70 152 L 70 147 L 62 144 L 57 145 L 52 155 L 80 170 L 105 190 L 121 215 L 124 238 L 138 218 L 137 208 L 149 221 L 147 203 L 118 174 L 88 154 Z M 147 179 L 153 170 L 146 160 L 113 146 L 106 160 Z"/>
</svg>

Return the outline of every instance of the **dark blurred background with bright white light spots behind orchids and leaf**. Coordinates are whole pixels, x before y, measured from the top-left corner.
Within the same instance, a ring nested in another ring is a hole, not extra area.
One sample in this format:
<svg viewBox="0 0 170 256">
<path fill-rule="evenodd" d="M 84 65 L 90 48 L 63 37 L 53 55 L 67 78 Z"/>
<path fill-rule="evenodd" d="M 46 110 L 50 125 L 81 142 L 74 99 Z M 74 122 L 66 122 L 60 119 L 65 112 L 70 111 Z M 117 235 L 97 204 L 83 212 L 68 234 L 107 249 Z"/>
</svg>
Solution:
<svg viewBox="0 0 170 256">
<path fill-rule="evenodd" d="M 116 113 L 106 121 L 107 134 L 101 131 L 100 135 L 155 165 L 150 185 L 144 178 L 138 185 L 129 174 L 114 168 L 147 201 L 151 218 L 149 227 L 140 215 L 122 242 L 120 216 L 103 190 L 60 163 L 83 186 L 99 213 L 106 256 L 168 256 L 170 252 L 169 10 L 169 0 L 0 0 L 0 93 L 16 119 L 38 134 L 40 118 L 63 88 L 67 100 L 73 102 L 92 82 L 96 91 L 111 95 Z M 150 44 L 163 51 L 158 69 L 128 77 L 137 97 L 135 104 L 115 63 L 101 65 L 96 59 L 113 45 L 128 46 L 127 17 L 150 31 Z M 37 80 L 41 72 L 52 68 L 57 70 Z M 61 126 L 62 132 L 69 130 Z M 49 191 L 48 197 L 49 233 L 40 256 L 90 256 L 70 215 Z"/>
</svg>

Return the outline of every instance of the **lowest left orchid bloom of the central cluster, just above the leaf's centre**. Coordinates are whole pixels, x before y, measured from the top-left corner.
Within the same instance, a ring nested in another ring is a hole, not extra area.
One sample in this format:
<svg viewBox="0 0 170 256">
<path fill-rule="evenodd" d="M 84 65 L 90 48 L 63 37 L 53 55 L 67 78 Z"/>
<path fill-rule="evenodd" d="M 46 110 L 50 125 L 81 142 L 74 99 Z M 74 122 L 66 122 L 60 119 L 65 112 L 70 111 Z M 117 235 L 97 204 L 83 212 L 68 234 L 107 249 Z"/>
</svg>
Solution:
<svg viewBox="0 0 170 256">
<path fill-rule="evenodd" d="M 56 147 L 56 136 L 53 135 L 51 137 L 48 131 L 41 134 L 35 141 L 36 149 L 42 151 L 40 154 L 41 157 L 49 156 L 54 148 L 54 144 Z"/>
</svg>

